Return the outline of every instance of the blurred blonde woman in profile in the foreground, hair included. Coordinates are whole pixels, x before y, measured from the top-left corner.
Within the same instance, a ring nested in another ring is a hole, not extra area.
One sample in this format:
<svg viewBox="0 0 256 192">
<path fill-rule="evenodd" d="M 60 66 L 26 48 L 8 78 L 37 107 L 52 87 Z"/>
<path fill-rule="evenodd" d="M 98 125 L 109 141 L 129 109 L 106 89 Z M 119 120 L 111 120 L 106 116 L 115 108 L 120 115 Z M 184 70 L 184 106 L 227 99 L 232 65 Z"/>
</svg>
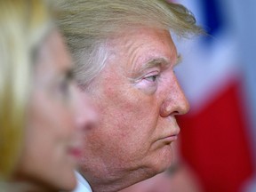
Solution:
<svg viewBox="0 0 256 192">
<path fill-rule="evenodd" d="M 1 0 L 0 28 L 0 190 L 71 190 L 92 118 L 66 47 L 40 0 Z"/>
</svg>

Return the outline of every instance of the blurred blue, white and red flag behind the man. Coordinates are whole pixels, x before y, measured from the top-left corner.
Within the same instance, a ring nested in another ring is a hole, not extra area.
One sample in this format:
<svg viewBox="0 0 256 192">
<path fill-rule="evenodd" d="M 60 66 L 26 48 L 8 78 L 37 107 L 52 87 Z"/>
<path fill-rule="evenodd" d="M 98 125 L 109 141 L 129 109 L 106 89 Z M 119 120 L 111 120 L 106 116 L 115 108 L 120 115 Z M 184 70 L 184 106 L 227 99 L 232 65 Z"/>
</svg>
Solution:
<svg viewBox="0 0 256 192">
<path fill-rule="evenodd" d="M 244 182 L 252 178 L 255 148 L 248 137 L 252 124 L 244 101 L 239 41 L 223 2 L 175 2 L 185 4 L 210 35 L 177 40 L 178 52 L 184 55 L 177 76 L 191 105 L 188 115 L 179 118 L 181 154 L 204 191 L 243 191 Z"/>
</svg>

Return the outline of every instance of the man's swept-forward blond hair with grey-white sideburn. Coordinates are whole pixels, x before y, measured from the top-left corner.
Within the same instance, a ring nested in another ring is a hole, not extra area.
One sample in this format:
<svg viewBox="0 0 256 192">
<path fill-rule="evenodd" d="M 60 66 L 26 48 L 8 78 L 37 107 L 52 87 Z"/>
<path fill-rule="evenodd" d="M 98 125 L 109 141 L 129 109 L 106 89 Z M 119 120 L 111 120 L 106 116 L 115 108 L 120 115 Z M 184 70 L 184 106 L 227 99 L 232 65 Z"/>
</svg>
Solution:
<svg viewBox="0 0 256 192">
<path fill-rule="evenodd" d="M 104 68 L 108 38 L 131 27 L 172 30 L 187 37 L 201 33 L 191 12 L 164 0 L 60 0 L 58 21 L 76 63 L 76 80 L 85 86 Z"/>
</svg>

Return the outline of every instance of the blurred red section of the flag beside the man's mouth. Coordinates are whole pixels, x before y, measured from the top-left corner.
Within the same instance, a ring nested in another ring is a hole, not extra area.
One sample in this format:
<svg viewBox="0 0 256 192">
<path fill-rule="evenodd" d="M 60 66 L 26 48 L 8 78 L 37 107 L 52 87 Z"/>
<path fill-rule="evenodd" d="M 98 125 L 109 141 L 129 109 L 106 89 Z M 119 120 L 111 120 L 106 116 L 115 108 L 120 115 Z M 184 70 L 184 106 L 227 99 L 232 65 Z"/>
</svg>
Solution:
<svg viewBox="0 0 256 192">
<path fill-rule="evenodd" d="M 196 116 L 179 118 L 181 154 L 206 192 L 238 192 L 252 175 L 239 84 L 233 83 Z"/>
</svg>

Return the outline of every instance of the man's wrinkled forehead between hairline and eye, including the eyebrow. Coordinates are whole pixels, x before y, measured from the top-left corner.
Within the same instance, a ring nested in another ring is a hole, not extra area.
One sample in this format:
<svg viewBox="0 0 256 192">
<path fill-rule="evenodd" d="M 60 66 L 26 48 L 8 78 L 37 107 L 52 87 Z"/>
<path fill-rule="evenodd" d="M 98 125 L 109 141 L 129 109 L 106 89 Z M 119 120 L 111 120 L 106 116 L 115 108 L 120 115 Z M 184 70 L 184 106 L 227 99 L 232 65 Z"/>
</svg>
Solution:
<svg viewBox="0 0 256 192">
<path fill-rule="evenodd" d="M 132 70 L 175 65 L 177 51 L 170 32 L 156 28 L 140 29 L 131 29 L 124 36 L 112 38 L 108 44 L 109 58 L 123 60 L 122 63 Z"/>
</svg>

